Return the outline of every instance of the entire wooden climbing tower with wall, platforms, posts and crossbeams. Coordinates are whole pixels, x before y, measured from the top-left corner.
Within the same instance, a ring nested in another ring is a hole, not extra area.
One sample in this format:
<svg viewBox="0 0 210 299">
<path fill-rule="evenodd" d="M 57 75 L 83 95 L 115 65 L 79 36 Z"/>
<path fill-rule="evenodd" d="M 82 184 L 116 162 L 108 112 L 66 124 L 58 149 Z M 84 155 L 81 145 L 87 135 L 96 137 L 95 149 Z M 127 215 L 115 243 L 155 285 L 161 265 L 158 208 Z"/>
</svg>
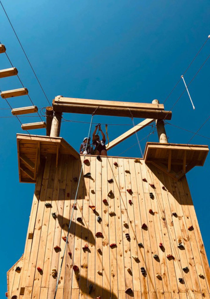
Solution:
<svg viewBox="0 0 210 299">
<path fill-rule="evenodd" d="M 91 155 L 83 164 L 83 155 L 59 137 L 62 112 L 147 118 L 108 150 L 154 120 L 159 142 L 148 142 L 143 158 Z M 56 299 L 209 298 L 209 265 L 185 176 L 203 166 L 209 149 L 169 144 L 163 120 L 170 118 L 157 100 L 58 96 L 46 123 L 27 126 L 46 126 L 46 136 L 17 134 L 19 181 L 35 183 L 35 191 L 24 253 L 7 272 L 9 299 L 53 299 L 60 269 Z"/>
</svg>

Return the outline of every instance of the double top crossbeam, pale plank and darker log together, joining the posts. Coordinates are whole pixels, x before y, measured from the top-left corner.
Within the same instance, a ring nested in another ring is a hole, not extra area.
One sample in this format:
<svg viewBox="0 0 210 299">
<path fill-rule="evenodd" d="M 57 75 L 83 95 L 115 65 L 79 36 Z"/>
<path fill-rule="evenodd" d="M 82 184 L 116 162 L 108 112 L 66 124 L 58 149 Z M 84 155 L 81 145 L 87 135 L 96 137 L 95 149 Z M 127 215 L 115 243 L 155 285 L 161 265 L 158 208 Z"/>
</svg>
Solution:
<svg viewBox="0 0 210 299">
<path fill-rule="evenodd" d="M 57 112 L 112 115 L 151 119 L 171 119 L 172 112 L 164 111 L 162 104 L 116 102 L 103 100 L 55 97 L 53 110 Z"/>
</svg>

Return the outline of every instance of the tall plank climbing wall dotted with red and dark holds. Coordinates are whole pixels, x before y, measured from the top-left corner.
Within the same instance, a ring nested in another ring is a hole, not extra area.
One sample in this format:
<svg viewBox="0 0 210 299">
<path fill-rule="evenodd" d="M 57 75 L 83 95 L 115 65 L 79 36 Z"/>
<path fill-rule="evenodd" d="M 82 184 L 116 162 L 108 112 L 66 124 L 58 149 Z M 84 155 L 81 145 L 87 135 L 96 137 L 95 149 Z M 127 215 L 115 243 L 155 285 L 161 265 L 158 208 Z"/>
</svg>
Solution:
<svg viewBox="0 0 210 299">
<path fill-rule="evenodd" d="M 78 187 L 56 299 L 209 298 L 209 265 L 186 178 L 175 182 L 143 160 L 135 163 L 134 158 L 88 159 L 90 164 L 83 166 Z M 40 164 L 24 255 L 7 274 L 9 299 L 15 295 L 21 299 L 54 298 L 56 278 L 51 273 L 61 267 L 62 237 L 67 235 L 78 184 L 74 178 L 79 177 L 81 164 L 70 155 L 61 155 L 57 168 L 55 155 L 48 155 Z M 88 172 L 91 178 L 84 179 Z M 113 183 L 108 183 L 110 179 Z M 114 196 L 108 197 L 110 190 Z M 51 203 L 52 208 L 45 203 Z M 96 211 L 89 205 L 96 206 Z M 141 228 L 143 223 L 145 229 Z M 96 237 L 97 232 L 102 232 L 102 237 Z M 83 250 L 86 243 L 89 248 Z M 116 243 L 114 248 L 110 248 L 112 243 Z M 179 243 L 184 249 L 177 247 Z M 56 245 L 61 251 L 54 250 Z M 168 254 L 174 259 L 167 258 Z M 17 265 L 21 271 L 15 271 Z M 78 266 L 78 272 L 73 271 L 73 265 Z M 132 293 L 127 294 L 129 288 Z"/>
</svg>

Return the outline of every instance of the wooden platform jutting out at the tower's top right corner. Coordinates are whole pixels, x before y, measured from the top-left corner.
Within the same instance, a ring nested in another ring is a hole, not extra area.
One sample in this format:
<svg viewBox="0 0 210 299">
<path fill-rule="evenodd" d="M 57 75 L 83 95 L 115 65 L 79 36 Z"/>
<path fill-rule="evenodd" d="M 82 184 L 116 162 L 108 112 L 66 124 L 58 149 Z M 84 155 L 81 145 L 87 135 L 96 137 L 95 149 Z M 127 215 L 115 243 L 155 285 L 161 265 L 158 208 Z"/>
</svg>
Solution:
<svg viewBox="0 0 210 299">
<path fill-rule="evenodd" d="M 208 152 L 208 145 L 147 142 L 144 160 L 179 180 L 194 166 L 203 166 Z"/>
</svg>

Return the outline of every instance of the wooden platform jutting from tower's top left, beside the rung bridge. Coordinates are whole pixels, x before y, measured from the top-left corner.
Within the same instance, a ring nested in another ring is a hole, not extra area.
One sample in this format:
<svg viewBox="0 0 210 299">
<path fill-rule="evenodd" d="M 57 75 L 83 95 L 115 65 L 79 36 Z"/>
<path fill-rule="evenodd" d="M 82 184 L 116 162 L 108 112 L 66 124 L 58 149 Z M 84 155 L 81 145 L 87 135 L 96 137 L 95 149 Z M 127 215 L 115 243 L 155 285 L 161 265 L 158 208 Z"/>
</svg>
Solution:
<svg viewBox="0 0 210 299">
<path fill-rule="evenodd" d="M 79 158 L 78 152 L 61 137 L 17 134 L 19 181 L 35 183 L 40 158 L 56 154 L 56 167 L 60 154 Z"/>
</svg>

